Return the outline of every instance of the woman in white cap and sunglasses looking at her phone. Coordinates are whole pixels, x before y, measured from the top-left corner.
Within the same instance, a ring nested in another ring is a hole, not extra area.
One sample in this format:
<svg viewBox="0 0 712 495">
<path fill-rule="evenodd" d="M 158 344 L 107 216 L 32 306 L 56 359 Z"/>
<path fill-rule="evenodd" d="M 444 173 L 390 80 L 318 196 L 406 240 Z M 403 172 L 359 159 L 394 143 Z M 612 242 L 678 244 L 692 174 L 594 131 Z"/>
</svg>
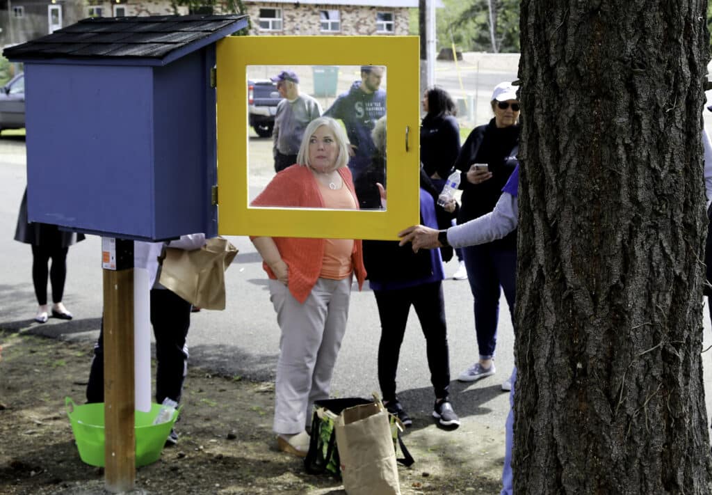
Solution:
<svg viewBox="0 0 712 495">
<path fill-rule="evenodd" d="M 518 165 L 520 108 L 516 88 L 508 82 L 498 84 L 494 88 L 491 105 L 494 118 L 486 126 L 473 129 L 455 161 L 455 168 L 461 170 L 460 188 L 463 190 L 457 218 L 459 224 L 490 213 Z M 514 309 L 516 230 L 503 239 L 463 248 L 463 254 L 474 298 L 479 359 L 462 372 L 458 379 L 473 382 L 495 373 L 493 359 L 497 343 L 500 287 L 504 290 L 510 314 Z M 509 380 L 502 384 L 502 389 L 511 389 Z"/>
</svg>

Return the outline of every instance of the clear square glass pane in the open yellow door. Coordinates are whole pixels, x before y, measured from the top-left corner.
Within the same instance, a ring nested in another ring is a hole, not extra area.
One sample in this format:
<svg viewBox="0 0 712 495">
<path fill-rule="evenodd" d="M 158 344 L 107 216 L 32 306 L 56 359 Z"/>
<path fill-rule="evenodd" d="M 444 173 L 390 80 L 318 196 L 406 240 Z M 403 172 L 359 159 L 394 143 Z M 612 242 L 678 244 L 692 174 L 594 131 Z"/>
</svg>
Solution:
<svg viewBox="0 0 712 495">
<path fill-rule="evenodd" d="M 248 203 L 253 208 L 320 208 L 299 203 L 304 200 L 300 191 L 314 184 L 326 208 L 348 210 L 356 201 L 362 210 L 383 208 L 377 183 L 386 186 L 384 66 L 248 66 L 246 76 Z M 319 121 L 310 129 L 320 116 L 335 123 Z M 357 198 L 345 195 L 342 174 L 335 170 L 340 163 L 351 172 Z M 294 169 L 275 179 L 292 165 L 310 174 Z"/>
</svg>

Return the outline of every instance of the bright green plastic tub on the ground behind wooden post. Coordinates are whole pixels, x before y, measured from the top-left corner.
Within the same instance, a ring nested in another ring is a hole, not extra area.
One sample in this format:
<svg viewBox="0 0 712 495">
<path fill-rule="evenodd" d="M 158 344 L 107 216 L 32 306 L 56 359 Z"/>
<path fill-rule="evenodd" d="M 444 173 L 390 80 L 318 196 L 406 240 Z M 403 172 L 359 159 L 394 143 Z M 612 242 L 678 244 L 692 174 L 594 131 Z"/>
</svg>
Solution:
<svg viewBox="0 0 712 495">
<path fill-rule="evenodd" d="M 104 403 L 78 406 L 66 397 L 65 404 L 82 461 L 90 466 L 104 467 Z M 153 424 L 161 404 L 151 404 L 150 412 L 135 412 L 136 466 L 145 466 L 159 459 L 179 409 L 169 422 L 162 424 Z"/>
</svg>

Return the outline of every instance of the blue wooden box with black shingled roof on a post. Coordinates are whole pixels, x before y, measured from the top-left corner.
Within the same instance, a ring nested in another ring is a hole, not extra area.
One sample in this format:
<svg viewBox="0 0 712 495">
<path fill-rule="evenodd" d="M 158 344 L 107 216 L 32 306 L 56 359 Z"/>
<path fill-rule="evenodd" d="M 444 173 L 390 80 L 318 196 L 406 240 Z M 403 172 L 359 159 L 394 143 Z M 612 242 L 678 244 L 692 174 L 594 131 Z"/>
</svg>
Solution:
<svg viewBox="0 0 712 495">
<path fill-rule="evenodd" d="M 25 63 L 29 220 L 140 240 L 217 234 L 215 42 L 246 16 L 85 19 Z"/>
</svg>

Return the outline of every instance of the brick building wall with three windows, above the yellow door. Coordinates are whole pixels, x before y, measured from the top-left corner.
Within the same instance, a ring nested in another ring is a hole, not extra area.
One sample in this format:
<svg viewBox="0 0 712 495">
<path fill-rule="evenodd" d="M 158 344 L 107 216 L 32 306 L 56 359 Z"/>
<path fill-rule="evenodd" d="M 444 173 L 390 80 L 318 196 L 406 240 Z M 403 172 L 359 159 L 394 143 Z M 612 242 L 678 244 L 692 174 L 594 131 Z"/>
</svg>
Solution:
<svg viewBox="0 0 712 495">
<path fill-rule="evenodd" d="M 345 6 L 330 4 L 278 4 L 260 2 L 258 4 L 248 1 L 244 2 L 247 14 L 250 16 L 250 34 L 271 36 L 271 35 L 330 35 L 335 36 L 369 36 L 375 34 L 392 34 L 404 36 L 408 34 L 408 9 L 405 7 L 365 7 L 365 6 Z M 281 9 L 282 29 L 281 31 L 265 31 L 260 29 L 260 9 Z M 340 31 L 320 30 L 320 11 L 336 10 L 340 14 Z M 393 14 L 394 30 L 389 33 L 378 32 L 376 29 L 377 12 L 389 12 Z"/>
</svg>

